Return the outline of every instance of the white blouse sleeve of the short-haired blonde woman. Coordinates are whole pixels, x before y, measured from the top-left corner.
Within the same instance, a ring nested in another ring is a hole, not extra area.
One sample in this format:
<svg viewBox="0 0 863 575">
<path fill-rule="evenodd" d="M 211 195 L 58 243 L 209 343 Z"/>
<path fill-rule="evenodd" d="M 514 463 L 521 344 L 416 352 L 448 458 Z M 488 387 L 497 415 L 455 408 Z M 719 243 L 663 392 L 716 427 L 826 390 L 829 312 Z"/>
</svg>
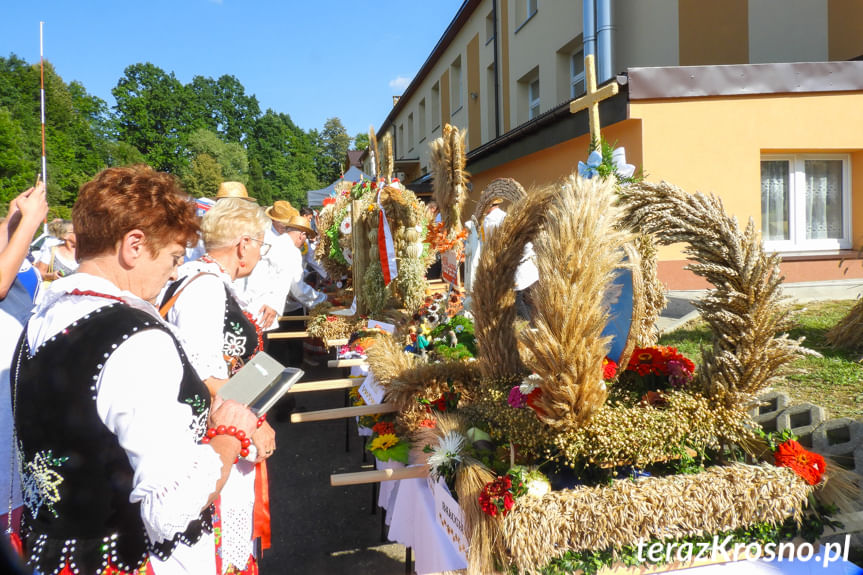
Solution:
<svg viewBox="0 0 863 575">
<path fill-rule="evenodd" d="M 221 279 L 201 276 L 188 284 L 168 312 L 168 321 L 177 326 L 183 350 L 201 379 L 227 379 L 229 376 L 222 355 L 225 297 Z"/>
</svg>

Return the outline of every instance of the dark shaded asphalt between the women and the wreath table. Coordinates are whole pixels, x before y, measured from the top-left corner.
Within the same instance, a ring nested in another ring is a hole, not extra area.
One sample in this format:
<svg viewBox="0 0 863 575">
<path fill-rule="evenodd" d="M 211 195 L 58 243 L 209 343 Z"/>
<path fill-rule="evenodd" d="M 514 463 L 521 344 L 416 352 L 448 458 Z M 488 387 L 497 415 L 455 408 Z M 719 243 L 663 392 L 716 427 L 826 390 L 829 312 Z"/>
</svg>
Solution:
<svg viewBox="0 0 863 575">
<path fill-rule="evenodd" d="M 271 351 L 285 357 L 277 347 Z M 305 381 L 342 377 L 337 369 L 303 369 Z M 344 401 L 342 391 L 296 395 L 297 409 L 309 411 L 342 407 Z M 264 552 L 261 573 L 405 573 L 405 548 L 382 541 L 381 510 L 373 504 L 372 487 L 330 486 L 331 473 L 373 468 L 370 460 L 363 461 L 354 420 L 346 434 L 345 420 L 292 424 L 281 415 L 283 421 L 269 418 L 278 442 L 269 464 L 273 547 Z"/>
</svg>

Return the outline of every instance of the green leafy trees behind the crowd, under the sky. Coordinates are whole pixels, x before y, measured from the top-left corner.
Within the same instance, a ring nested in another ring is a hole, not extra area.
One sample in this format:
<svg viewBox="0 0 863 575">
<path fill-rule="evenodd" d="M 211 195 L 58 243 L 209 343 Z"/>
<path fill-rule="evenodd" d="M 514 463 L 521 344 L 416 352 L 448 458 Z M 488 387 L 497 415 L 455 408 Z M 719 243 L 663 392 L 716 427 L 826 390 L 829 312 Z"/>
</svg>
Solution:
<svg viewBox="0 0 863 575">
<path fill-rule="evenodd" d="M 304 131 L 288 114 L 261 112 L 230 75 L 188 84 L 150 63 L 127 67 L 111 90 L 116 105 L 45 63 L 48 200 L 68 217 L 80 186 L 109 166 L 146 163 L 181 179 L 195 197 L 239 180 L 262 205 L 305 204 L 306 191 L 339 177 L 353 138 L 338 117 Z M 0 214 L 41 169 L 40 67 L 0 57 Z M 367 137 L 357 135 L 357 144 Z"/>
</svg>

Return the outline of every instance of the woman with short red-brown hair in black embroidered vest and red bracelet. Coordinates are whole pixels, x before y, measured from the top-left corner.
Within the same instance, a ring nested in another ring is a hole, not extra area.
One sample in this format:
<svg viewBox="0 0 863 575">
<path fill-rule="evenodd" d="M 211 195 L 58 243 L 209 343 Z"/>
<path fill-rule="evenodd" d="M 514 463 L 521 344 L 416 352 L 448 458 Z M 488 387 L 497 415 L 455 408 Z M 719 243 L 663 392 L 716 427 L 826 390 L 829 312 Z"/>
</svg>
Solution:
<svg viewBox="0 0 863 575">
<path fill-rule="evenodd" d="M 51 284 L 12 363 L 27 560 L 213 572 L 211 503 L 256 420 L 211 404 L 153 306 L 196 237 L 194 205 L 168 174 L 110 168 L 72 217 L 78 273 Z"/>
</svg>

